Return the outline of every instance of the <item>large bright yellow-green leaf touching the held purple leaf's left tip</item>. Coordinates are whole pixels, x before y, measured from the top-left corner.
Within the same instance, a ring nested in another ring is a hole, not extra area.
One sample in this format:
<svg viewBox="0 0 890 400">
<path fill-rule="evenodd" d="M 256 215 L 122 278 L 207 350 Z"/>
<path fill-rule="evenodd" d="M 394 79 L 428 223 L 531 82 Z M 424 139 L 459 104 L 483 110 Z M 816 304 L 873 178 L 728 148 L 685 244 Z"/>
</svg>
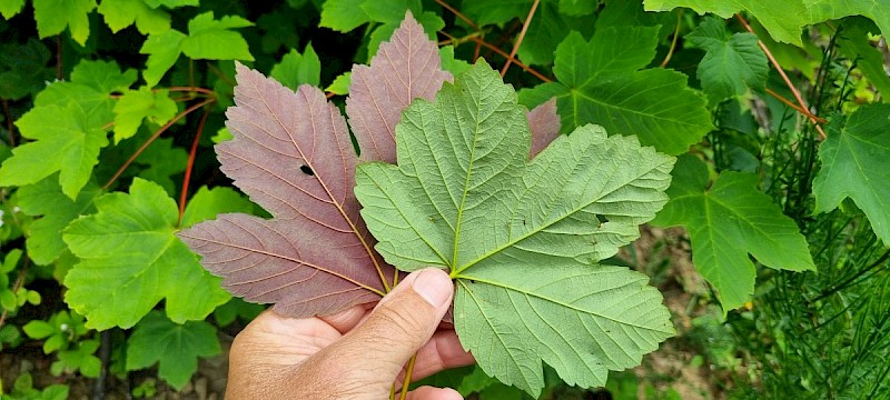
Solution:
<svg viewBox="0 0 890 400">
<path fill-rule="evenodd" d="M 65 279 L 65 300 L 89 328 L 132 327 L 165 298 L 171 320 L 200 320 L 229 299 L 174 236 L 177 206 L 161 187 L 137 178 L 129 194 L 108 193 L 95 204 L 98 213 L 62 232 L 81 260 Z"/>
</svg>

